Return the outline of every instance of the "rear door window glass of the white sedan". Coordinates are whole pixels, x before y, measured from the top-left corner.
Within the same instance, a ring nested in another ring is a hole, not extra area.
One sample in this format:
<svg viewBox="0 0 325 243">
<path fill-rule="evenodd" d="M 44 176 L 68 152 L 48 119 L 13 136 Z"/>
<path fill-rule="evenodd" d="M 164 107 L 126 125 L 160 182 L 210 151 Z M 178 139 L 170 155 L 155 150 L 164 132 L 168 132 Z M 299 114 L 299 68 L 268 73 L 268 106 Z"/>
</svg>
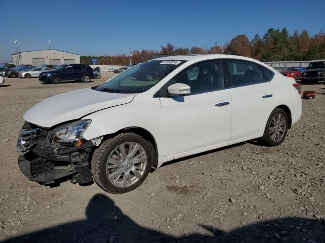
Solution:
<svg viewBox="0 0 325 243">
<path fill-rule="evenodd" d="M 261 70 L 252 62 L 228 60 L 232 86 L 252 85 L 263 82 Z"/>
</svg>

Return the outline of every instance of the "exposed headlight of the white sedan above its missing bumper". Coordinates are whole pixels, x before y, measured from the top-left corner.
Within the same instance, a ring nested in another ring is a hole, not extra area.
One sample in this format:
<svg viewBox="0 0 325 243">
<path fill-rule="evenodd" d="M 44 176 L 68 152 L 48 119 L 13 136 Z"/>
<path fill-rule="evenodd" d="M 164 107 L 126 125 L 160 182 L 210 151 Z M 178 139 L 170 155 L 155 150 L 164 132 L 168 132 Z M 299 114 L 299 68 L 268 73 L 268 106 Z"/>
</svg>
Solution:
<svg viewBox="0 0 325 243">
<path fill-rule="evenodd" d="M 57 127 L 49 132 L 48 141 L 50 144 L 57 143 L 66 146 L 80 146 L 85 140 L 82 135 L 86 131 L 90 123 L 90 119 L 78 120 L 74 123 L 69 123 Z"/>
</svg>

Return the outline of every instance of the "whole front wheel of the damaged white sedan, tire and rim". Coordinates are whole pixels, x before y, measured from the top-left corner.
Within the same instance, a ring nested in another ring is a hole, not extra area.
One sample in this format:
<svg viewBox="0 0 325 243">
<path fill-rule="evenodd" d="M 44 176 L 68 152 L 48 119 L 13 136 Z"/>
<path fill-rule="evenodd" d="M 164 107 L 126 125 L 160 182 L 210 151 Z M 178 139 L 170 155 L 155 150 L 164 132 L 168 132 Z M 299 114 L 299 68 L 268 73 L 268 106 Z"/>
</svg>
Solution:
<svg viewBox="0 0 325 243">
<path fill-rule="evenodd" d="M 94 151 L 92 176 L 110 193 L 132 191 L 148 176 L 153 158 L 153 151 L 144 138 L 134 133 L 119 134 Z"/>
</svg>

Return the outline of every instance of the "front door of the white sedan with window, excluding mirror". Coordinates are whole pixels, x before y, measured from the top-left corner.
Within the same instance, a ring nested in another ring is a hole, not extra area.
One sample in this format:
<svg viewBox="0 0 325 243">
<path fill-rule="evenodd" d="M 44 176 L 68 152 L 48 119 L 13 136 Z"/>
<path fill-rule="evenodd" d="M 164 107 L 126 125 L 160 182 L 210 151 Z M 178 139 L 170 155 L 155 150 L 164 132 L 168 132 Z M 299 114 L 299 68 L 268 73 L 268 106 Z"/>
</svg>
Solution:
<svg viewBox="0 0 325 243">
<path fill-rule="evenodd" d="M 191 94 L 168 97 L 174 83 L 189 85 Z M 221 61 L 208 61 L 186 68 L 161 89 L 166 156 L 230 141 L 232 101 L 224 88 Z"/>
</svg>

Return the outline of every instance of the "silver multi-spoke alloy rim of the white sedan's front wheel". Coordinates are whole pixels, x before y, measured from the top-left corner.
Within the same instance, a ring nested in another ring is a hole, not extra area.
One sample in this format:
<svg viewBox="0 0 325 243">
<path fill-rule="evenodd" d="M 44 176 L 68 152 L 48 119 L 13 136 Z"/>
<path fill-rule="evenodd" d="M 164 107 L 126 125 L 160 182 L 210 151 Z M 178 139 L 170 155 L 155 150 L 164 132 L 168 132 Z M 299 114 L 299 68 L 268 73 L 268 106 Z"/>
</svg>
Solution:
<svg viewBox="0 0 325 243">
<path fill-rule="evenodd" d="M 144 148 L 136 142 L 116 147 L 108 157 L 106 175 L 116 187 L 129 187 L 141 179 L 147 164 Z"/>
</svg>

